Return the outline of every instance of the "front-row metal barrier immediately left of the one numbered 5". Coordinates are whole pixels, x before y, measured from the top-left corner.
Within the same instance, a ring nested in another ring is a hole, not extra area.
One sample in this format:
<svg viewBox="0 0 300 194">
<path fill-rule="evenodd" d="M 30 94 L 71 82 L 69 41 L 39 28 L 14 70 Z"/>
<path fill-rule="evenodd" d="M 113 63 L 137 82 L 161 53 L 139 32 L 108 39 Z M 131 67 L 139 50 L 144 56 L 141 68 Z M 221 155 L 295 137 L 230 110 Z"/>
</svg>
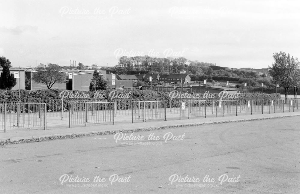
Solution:
<svg viewBox="0 0 300 194">
<path fill-rule="evenodd" d="M 167 101 L 133 101 L 131 122 L 152 119 L 167 120 Z"/>
</svg>

